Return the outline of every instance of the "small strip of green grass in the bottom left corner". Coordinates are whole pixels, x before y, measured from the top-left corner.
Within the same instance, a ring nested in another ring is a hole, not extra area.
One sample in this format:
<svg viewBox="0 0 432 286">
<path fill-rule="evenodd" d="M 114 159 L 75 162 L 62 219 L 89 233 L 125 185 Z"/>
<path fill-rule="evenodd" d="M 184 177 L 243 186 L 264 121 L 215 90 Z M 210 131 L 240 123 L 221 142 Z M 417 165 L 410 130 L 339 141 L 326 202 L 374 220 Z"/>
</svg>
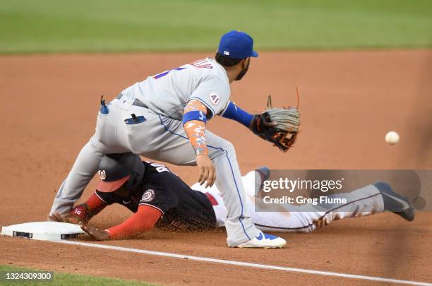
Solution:
<svg viewBox="0 0 432 286">
<path fill-rule="evenodd" d="M 5 266 L 0 265 L 0 271 L 37 271 L 32 268 L 22 268 L 16 266 Z M 4 276 L 3 276 L 4 277 Z M 121 280 L 116 278 L 102 278 L 90 275 L 78 275 L 78 274 L 68 274 L 68 273 L 54 273 L 54 280 L 51 282 L 5 282 L 6 280 L 0 280 L 0 285 L 114 285 L 114 286 L 124 286 L 124 285 L 136 285 L 136 286 L 156 286 L 155 284 L 148 284 L 144 282 L 136 282 L 133 280 Z"/>
</svg>

